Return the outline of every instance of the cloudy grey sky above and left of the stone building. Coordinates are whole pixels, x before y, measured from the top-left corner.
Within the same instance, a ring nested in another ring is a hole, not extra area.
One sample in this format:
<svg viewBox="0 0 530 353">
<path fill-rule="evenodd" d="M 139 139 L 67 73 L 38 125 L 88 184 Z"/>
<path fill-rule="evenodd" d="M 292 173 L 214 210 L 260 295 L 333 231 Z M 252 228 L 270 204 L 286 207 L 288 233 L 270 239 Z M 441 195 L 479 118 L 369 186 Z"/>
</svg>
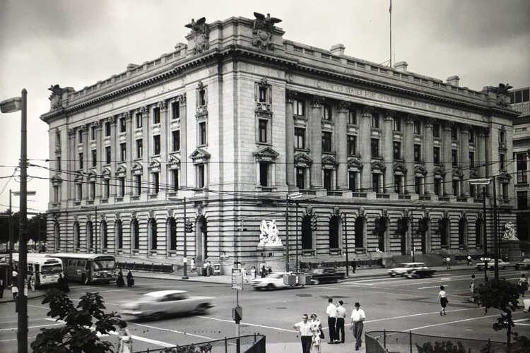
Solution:
<svg viewBox="0 0 530 353">
<path fill-rule="evenodd" d="M 0 100 L 28 90 L 28 158 L 47 166 L 50 85 L 76 90 L 171 52 L 185 42 L 191 18 L 206 22 L 254 11 L 280 18 L 285 39 L 383 63 L 389 59 L 389 0 L 0 0 Z M 481 90 L 486 85 L 530 85 L 530 1 L 394 0 L 394 61 L 408 70 Z M 20 155 L 20 113 L 0 114 L 0 210 Z M 45 169 L 31 167 L 30 212 L 45 211 Z M 16 174 L 17 175 L 17 174 Z M 15 210 L 18 200 L 13 198 Z"/>
</svg>

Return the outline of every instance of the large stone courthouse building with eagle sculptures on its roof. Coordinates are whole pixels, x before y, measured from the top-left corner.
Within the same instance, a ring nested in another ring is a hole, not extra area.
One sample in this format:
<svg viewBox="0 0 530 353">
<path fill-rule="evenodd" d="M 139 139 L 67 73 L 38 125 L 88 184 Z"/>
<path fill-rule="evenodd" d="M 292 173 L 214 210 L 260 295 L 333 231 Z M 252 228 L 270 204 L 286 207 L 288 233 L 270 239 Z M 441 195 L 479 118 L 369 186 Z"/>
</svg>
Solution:
<svg viewBox="0 0 530 353">
<path fill-rule="evenodd" d="M 496 176 L 499 225 L 515 222 L 504 85 L 293 42 L 254 16 L 192 20 L 169 54 L 50 88 L 52 249 L 274 270 L 286 256 L 294 268 L 493 249 L 493 188 L 484 224 L 468 179 Z M 257 246 L 263 220 L 276 220 L 275 251 Z"/>
</svg>

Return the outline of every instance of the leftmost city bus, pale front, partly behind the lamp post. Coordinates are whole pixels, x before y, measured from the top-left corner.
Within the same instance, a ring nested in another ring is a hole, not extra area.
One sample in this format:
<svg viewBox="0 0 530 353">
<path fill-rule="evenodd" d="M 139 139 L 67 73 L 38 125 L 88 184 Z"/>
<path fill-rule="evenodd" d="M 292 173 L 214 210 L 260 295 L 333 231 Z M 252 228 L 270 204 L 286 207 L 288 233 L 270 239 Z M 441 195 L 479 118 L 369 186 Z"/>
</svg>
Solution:
<svg viewBox="0 0 530 353">
<path fill-rule="evenodd" d="M 18 253 L 13 253 L 13 266 L 18 271 Z M 60 258 L 28 253 L 28 280 L 31 275 L 35 275 L 35 287 L 56 285 L 59 282 L 59 273 L 63 273 Z"/>
</svg>

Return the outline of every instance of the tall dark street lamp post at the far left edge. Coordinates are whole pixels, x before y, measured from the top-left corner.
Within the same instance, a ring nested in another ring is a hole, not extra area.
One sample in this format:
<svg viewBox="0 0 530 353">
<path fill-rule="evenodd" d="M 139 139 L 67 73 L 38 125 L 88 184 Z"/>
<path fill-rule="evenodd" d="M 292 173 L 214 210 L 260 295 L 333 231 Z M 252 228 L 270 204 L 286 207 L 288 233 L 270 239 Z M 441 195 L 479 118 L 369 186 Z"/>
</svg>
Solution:
<svg viewBox="0 0 530 353">
<path fill-rule="evenodd" d="M 23 88 L 20 97 L 0 102 L 2 113 L 21 111 L 20 114 L 20 211 L 18 229 L 18 353 L 28 352 L 28 297 L 25 296 L 25 282 L 28 276 L 28 91 Z"/>
</svg>

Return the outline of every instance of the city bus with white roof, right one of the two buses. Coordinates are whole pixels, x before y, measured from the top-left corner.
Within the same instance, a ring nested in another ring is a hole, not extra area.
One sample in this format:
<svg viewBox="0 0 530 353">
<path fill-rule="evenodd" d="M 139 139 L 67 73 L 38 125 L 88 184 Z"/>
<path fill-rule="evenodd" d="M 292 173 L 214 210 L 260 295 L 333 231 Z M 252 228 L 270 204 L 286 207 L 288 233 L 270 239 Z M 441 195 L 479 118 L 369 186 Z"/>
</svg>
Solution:
<svg viewBox="0 0 530 353">
<path fill-rule="evenodd" d="M 50 253 L 49 257 L 63 262 L 66 280 L 90 283 L 109 283 L 116 280 L 116 258 L 96 253 Z"/>
</svg>

